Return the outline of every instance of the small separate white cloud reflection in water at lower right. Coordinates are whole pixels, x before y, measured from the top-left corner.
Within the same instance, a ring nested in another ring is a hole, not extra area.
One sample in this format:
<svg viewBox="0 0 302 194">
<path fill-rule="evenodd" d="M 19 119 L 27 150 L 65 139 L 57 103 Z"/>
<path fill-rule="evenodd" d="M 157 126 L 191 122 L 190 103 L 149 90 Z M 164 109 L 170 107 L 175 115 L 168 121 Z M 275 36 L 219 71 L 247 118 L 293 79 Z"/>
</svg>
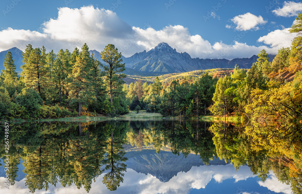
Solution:
<svg viewBox="0 0 302 194">
<path fill-rule="evenodd" d="M 269 176 L 264 182 L 258 181 L 258 184 L 274 192 L 282 192 L 286 194 L 292 193 L 290 185 L 281 183 L 272 172 L 270 172 L 270 174 L 271 176 Z"/>
</svg>

